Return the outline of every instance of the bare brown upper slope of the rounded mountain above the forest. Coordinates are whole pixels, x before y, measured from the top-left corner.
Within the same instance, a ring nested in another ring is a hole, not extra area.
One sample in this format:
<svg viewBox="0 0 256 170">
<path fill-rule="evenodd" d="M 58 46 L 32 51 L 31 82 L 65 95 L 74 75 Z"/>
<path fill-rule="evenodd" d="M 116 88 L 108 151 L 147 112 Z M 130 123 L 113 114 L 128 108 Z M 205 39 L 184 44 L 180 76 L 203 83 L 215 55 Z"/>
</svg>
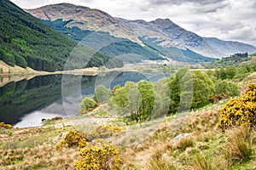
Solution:
<svg viewBox="0 0 256 170">
<path fill-rule="evenodd" d="M 137 35 L 125 24 L 115 20 L 111 15 L 93 8 L 76 6 L 70 3 L 47 5 L 41 8 L 26 9 L 41 20 L 69 20 L 67 27 L 78 27 L 81 30 L 109 32 L 114 37 L 123 37 L 141 43 Z"/>
</svg>

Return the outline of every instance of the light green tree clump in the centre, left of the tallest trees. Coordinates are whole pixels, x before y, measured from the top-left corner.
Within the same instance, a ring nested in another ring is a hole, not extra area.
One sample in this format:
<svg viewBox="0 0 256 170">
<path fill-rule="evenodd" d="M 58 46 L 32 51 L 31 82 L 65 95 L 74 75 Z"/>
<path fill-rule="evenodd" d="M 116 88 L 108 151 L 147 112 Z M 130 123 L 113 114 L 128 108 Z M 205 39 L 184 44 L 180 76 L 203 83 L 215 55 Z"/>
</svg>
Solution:
<svg viewBox="0 0 256 170">
<path fill-rule="evenodd" d="M 154 87 L 151 82 L 126 82 L 124 87 L 115 86 L 111 96 L 113 105 L 121 108 L 132 121 L 143 122 L 154 108 Z M 127 114 L 128 113 L 128 114 Z"/>
</svg>

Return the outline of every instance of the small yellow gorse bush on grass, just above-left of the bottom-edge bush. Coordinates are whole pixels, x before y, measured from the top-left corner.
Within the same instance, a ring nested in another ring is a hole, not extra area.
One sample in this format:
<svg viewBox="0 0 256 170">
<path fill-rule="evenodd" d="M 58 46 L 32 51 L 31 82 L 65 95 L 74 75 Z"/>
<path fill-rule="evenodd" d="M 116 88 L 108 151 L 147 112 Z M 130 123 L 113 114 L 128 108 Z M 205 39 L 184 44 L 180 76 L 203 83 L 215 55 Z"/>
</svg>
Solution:
<svg viewBox="0 0 256 170">
<path fill-rule="evenodd" d="M 63 146 L 67 145 L 67 147 L 79 146 L 79 148 L 85 147 L 88 139 L 85 139 L 83 134 L 77 130 L 70 130 L 66 134 L 65 138 L 61 140 L 59 144 L 57 144 L 56 149 L 61 150 Z"/>
</svg>

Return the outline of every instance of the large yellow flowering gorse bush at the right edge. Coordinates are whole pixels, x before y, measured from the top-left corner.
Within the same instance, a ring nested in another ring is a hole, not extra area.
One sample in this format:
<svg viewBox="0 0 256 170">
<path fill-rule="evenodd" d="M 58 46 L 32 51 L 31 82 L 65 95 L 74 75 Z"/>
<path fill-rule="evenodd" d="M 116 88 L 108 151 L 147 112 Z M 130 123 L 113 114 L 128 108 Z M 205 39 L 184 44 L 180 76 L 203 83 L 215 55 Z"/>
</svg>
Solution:
<svg viewBox="0 0 256 170">
<path fill-rule="evenodd" d="M 256 127 L 256 83 L 247 85 L 246 92 L 239 99 L 230 99 L 220 111 L 217 127 Z"/>
</svg>

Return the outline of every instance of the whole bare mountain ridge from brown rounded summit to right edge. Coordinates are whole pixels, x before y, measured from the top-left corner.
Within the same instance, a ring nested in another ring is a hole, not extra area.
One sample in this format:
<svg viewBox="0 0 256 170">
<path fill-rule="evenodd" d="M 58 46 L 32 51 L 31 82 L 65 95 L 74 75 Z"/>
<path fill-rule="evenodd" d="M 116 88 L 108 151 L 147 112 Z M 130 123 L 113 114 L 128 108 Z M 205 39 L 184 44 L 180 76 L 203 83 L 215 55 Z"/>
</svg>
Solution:
<svg viewBox="0 0 256 170">
<path fill-rule="evenodd" d="M 80 9 L 82 11 L 80 11 Z M 103 31 L 138 44 L 157 49 L 160 54 L 180 61 L 219 59 L 236 53 L 254 53 L 256 48 L 240 42 L 228 42 L 201 37 L 177 26 L 170 19 L 125 20 L 112 17 L 99 9 L 76 6 L 70 3 L 51 4 L 26 11 L 38 19 L 67 21 L 67 27 L 84 31 Z M 81 16 L 80 18 L 78 18 Z M 47 17 L 46 17 L 47 16 Z M 50 23 L 49 23 L 50 24 Z M 87 25 L 86 25 L 87 24 Z M 86 25 L 86 26 L 85 26 Z M 114 29 L 113 29 L 114 28 Z M 224 46 L 220 45 L 224 44 Z M 198 60 L 199 59 L 199 60 Z"/>
</svg>

